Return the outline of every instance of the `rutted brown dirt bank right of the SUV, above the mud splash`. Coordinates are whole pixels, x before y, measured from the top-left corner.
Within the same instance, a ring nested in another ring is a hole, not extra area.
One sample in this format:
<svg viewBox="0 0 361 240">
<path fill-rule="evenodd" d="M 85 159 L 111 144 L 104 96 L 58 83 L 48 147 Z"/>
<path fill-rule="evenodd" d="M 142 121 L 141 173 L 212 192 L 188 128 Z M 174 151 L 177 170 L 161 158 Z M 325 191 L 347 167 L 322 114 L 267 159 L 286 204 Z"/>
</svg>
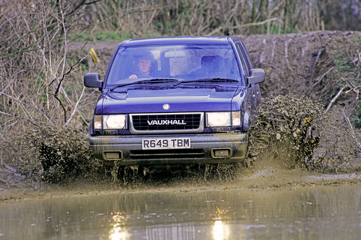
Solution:
<svg viewBox="0 0 361 240">
<path fill-rule="evenodd" d="M 242 36 L 241 36 L 242 37 Z M 297 92 L 355 113 L 361 79 L 361 32 L 315 31 L 242 37 L 255 67 L 263 68 L 262 96 Z M 350 91 L 348 91 L 350 90 Z"/>
</svg>

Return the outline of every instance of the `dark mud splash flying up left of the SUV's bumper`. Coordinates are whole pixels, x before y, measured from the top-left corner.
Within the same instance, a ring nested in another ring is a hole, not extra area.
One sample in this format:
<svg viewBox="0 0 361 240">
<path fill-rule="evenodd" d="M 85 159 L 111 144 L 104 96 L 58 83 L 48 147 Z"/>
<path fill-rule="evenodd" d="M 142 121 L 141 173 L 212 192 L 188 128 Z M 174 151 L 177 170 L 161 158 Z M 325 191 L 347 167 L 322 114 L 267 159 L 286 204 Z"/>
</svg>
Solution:
<svg viewBox="0 0 361 240">
<path fill-rule="evenodd" d="M 32 126 L 5 136 L 1 142 L 2 162 L 7 169 L 16 169 L 17 174 L 35 182 L 59 183 L 79 175 L 91 175 L 100 167 L 88 143 L 76 130 L 54 125 Z"/>
</svg>

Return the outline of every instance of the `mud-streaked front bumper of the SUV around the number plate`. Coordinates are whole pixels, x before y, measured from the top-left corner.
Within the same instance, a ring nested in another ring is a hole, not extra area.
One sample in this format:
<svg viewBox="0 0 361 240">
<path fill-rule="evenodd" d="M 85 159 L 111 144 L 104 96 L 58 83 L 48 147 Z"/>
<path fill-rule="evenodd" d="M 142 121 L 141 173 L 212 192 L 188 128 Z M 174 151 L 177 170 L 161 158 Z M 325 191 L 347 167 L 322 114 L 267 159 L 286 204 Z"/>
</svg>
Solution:
<svg viewBox="0 0 361 240">
<path fill-rule="evenodd" d="M 190 138 L 190 149 L 142 150 L 142 139 L 184 137 Z M 247 133 L 103 135 L 91 136 L 90 146 L 95 157 L 106 165 L 236 163 L 245 158 Z"/>
</svg>

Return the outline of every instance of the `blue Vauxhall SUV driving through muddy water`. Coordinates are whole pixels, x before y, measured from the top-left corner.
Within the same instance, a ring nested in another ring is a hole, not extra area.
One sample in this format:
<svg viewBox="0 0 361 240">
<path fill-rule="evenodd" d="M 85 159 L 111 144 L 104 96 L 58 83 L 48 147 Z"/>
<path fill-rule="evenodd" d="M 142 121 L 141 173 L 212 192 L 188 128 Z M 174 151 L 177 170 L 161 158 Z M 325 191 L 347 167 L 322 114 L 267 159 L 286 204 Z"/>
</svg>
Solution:
<svg viewBox="0 0 361 240">
<path fill-rule="evenodd" d="M 121 42 L 99 88 L 90 145 L 105 165 L 242 162 L 262 69 L 237 37 L 179 36 Z"/>
</svg>

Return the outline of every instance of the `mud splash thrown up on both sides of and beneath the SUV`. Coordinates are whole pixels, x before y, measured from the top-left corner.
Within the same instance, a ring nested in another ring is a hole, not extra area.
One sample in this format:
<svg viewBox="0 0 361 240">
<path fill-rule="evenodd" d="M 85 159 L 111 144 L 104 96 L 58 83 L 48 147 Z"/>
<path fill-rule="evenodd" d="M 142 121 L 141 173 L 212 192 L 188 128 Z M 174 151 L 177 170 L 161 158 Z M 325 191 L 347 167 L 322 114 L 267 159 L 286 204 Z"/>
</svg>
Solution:
<svg viewBox="0 0 361 240">
<path fill-rule="evenodd" d="M 187 183 L 200 189 L 219 183 L 223 188 L 265 188 L 302 185 L 303 175 L 357 173 L 361 169 L 360 134 L 338 119 L 306 96 L 272 96 L 262 102 L 259 115 L 252 119 L 248 157 L 243 163 L 202 165 L 167 177 L 150 175 L 146 181 L 136 180 L 135 185 L 174 188 L 182 182 L 182 186 Z M 96 183 L 97 188 L 106 183 L 103 189 L 112 189 L 134 182 L 134 176 L 143 173 L 138 168 L 122 169 L 128 173 L 118 180 L 118 168 L 106 169 L 97 163 L 84 136 L 68 127 L 32 124 L 21 133 L 4 137 L 0 142 L 0 190 L 54 184 L 72 187 L 81 181 Z M 129 177 L 131 181 L 127 181 Z"/>
</svg>

